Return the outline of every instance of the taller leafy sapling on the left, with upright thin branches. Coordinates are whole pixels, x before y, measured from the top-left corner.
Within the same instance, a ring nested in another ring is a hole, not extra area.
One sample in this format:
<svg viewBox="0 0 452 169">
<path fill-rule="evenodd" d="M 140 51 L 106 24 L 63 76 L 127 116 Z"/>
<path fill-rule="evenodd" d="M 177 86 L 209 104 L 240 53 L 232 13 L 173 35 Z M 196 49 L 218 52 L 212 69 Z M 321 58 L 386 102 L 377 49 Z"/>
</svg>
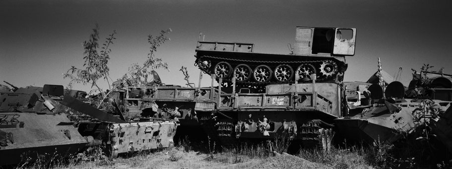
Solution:
<svg viewBox="0 0 452 169">
<path fill-rule="evenodd" d="M 99 50 L 99 25 L 96 24 L 96 27 L 93 29 L 93 32 L 89 36 L 88 41 L 83 42 L 83 48 L 85 51 L 83 52 L 83 60 L 84 64 L 82 68 L 77 68 L 72 66 L 70 69 L 63 74 L 64 78 L 69 78 L 70 82 L 68 86 L 71 86 L 73 83 L 78 84 L 91 84 L 92 89 L 89 93 L 91 94 L 94 91 L 98 91 L 102 94 L 103 99 L 105 99 L 108 93 L 104 93 L 103 89 L 99 86 L 98 80 L 104 79 L 107 81 L 109 89 L 111 90 L 111 78 L 109 74 L 108 61 L 110 60 L 110 45 L 113 44 L 113 40 L 115 40 L 116 31 L 113 31 L 112 34 L 106 38 L 105 43 L 102 44 L 101 51 Z M 98 105 L 98 108 L 100 103 Z"/>
</svg>

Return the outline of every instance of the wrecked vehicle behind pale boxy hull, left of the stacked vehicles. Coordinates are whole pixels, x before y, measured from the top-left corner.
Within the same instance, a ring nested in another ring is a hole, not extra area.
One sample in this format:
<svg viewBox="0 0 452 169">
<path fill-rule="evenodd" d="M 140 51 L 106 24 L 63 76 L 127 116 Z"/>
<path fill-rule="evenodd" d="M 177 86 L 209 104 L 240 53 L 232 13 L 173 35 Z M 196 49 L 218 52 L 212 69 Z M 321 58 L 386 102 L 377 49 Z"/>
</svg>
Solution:
<svg viewBox="0 0 452 169">
<path fill-rule="evenodd" d="M 186 75 L 188 77 L 188 74 Z M 199 132 L 202 128 L 199 126 L 196 114 L 214 110 L 215 102 L 212 100 L 217 94 L 215 88 L 194 87 L 194 84 L 189 81 L 187 87 L 163 84 L 156 72 L 153 72 L 153 76 L 153 82 L 149 83 L 151 85 L 134 85 L 125 82 L 124 84 L 129 85 L 113 94 L 112 98 L 118 100 L 118 109 L 123 112 L 124 118 L 131 121 L 162 119 L 175 121 L 181 126 L 177 128 L 175 141 L 188 137 L 190 141 L 197 142 L 207 138 L 203 132 Z M 199 82 L 201 78 L 202 76 Z"/>
</svg>

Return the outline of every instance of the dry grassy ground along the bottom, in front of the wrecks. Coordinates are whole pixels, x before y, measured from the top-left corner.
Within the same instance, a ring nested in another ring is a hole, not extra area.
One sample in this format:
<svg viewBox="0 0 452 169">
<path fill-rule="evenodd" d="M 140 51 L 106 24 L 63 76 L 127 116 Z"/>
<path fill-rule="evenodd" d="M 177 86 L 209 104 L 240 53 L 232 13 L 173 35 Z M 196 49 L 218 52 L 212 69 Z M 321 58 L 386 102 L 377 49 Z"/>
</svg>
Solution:
<svg viewBox="0 0 452 169">
<path fill-rule="evenodd" d="M 289 142 L 273 140 L 235 147 L 218 147 L 215 143 L 191 144 L 187 141 L 168 150 L 140 152 L 129 157 L 108 160 L 99 152 L 77 156 L 62 162 L 57 158 L 39 159 L 37 163 L 17 166 L 17 169 L 390 169 L 423 168 L 413 161 L 393 155 L 394 146 L 376 144 L 322 149 L 300 149 L 287 154 Z M 403 152 L 402 152 L 403 153 Z M 451 162 L 427 168 L 449 168 Z"/>
</svg>

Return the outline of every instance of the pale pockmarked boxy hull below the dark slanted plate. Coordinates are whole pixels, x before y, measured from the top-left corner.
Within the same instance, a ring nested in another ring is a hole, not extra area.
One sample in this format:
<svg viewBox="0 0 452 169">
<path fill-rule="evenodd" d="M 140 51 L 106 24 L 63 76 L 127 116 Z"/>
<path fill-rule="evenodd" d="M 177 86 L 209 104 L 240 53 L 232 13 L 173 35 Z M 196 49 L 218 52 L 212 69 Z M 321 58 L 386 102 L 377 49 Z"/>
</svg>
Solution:
<svg viewBox="0 0 452 169">
<path fill-rule="evenodd" d="M 92 136 L 91 145 L 106 145 L 104 150 L 116 157 L 121 153 L 167 148 L 174 145 L 178 124 L 175 121 L 130 123 L 80 123 L 83 136 Z"/>
</svg>

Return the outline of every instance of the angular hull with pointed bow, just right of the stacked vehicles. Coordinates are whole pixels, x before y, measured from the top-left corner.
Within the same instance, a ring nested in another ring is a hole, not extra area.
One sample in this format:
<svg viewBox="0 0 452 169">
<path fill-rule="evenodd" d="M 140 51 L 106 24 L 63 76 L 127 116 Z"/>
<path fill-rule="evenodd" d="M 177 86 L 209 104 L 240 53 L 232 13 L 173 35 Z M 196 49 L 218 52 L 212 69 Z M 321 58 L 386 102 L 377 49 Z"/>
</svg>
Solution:
<svg viewBox="0 0 452 169">
<path fill-rule="evenodd" d="M 419 125 L 413 116 L 419 103 L 408 99 L 398 99 L 397 102 L 391 104 L 381 100 L 381 104 L 369 106 L 363 114 L 335 119 L 335 125 L 347 140 L 394 142 L 402 133 Z"/>
</svg>

